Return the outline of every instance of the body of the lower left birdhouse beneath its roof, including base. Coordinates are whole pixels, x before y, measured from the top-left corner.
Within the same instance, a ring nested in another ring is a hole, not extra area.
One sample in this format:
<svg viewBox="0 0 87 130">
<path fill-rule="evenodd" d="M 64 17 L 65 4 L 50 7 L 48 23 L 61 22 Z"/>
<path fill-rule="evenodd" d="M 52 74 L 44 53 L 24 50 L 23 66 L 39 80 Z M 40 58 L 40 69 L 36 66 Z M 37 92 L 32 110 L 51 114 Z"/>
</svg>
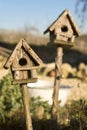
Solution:
<svg viewBox="0 0 87 130">
<path fill-rule="evenodd" d="M 37 76 L 33 73 L 36 72 L 36 69 L 37 62 L 25 48 L 21 46 L 21 48 L 17 50 L 16 57 L 12 63 L 13 83 L 27 83 L 30 82 L 31 79 L 33 82 L 37 81 Z"/>
</svg>

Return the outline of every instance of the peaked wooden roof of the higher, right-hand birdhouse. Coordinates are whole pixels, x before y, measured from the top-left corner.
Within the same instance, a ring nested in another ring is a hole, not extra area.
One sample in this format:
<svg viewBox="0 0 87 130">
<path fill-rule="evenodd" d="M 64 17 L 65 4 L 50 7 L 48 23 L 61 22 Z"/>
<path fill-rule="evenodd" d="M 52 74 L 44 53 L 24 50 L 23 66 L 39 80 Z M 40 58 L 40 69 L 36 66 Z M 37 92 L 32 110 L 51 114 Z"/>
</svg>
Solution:
<svg viewBox="0 0 87 130">
<path fill-rule="evenodd" d="M 57 27 L 58 22 L 60 22 L 64 18 L 64 16 L 67 16 L 67 19 L 69 20 L 71 26 L 73 27 L 75 35 L 79 36 L 80 31 L 69 10 L 64 10 L 62 14 L 44 31 L 44 34 L 53 31 Z"/>
</svg>

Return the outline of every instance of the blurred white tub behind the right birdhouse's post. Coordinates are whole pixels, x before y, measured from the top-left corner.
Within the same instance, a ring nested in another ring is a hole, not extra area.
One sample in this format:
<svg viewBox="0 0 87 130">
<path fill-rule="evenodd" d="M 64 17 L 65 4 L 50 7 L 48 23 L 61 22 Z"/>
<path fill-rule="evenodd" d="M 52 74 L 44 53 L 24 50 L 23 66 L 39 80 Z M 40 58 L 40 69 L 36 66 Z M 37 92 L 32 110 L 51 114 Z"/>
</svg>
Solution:
<svg viewBox="0 0 87 130">
<path fill-rule="evenodd" d="M 49 104 L 52 104 L 52 95 L 53 95 L 53 86 L 54 81 L 42 80 L 38 79 L 36 83 L 28 83 L 28 90 L 30 97 L 38 97 L 40 96 L 43 101 L 48 101 Z M 60 105 L 64 106 L 68 94 L 71 90 L 70 86 L 61 86 L 59 89 L 59 98 L 58 100 L 61 101 Z"/>
</svg>

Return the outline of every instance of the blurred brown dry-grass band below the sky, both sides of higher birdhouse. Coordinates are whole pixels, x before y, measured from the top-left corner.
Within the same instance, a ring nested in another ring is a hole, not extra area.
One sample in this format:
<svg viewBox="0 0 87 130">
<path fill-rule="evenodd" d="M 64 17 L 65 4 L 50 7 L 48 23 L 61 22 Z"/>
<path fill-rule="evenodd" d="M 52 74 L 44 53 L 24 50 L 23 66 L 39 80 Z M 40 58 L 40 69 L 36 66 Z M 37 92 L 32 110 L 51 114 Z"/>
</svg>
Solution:
<svg viewBox="0 0 87 130">
<path fill-rule="evenodd" d="M 0 31 L 0 41 L 6 43 L 18 43 L 20 38 L 25 38 L 30 44 L 34 45 L 47 45 L 49 42 L 49 36 L 46 35 L 36 35 L 26 30 L 24 31 L 14 31 L 14 30 L 2 30 Z M 74 47 L 77 50 L 82 52 L 87 52 L 87 34 L 81 35 L 80 37 L 76 38 L 76 46 Z"/>
</svg>

